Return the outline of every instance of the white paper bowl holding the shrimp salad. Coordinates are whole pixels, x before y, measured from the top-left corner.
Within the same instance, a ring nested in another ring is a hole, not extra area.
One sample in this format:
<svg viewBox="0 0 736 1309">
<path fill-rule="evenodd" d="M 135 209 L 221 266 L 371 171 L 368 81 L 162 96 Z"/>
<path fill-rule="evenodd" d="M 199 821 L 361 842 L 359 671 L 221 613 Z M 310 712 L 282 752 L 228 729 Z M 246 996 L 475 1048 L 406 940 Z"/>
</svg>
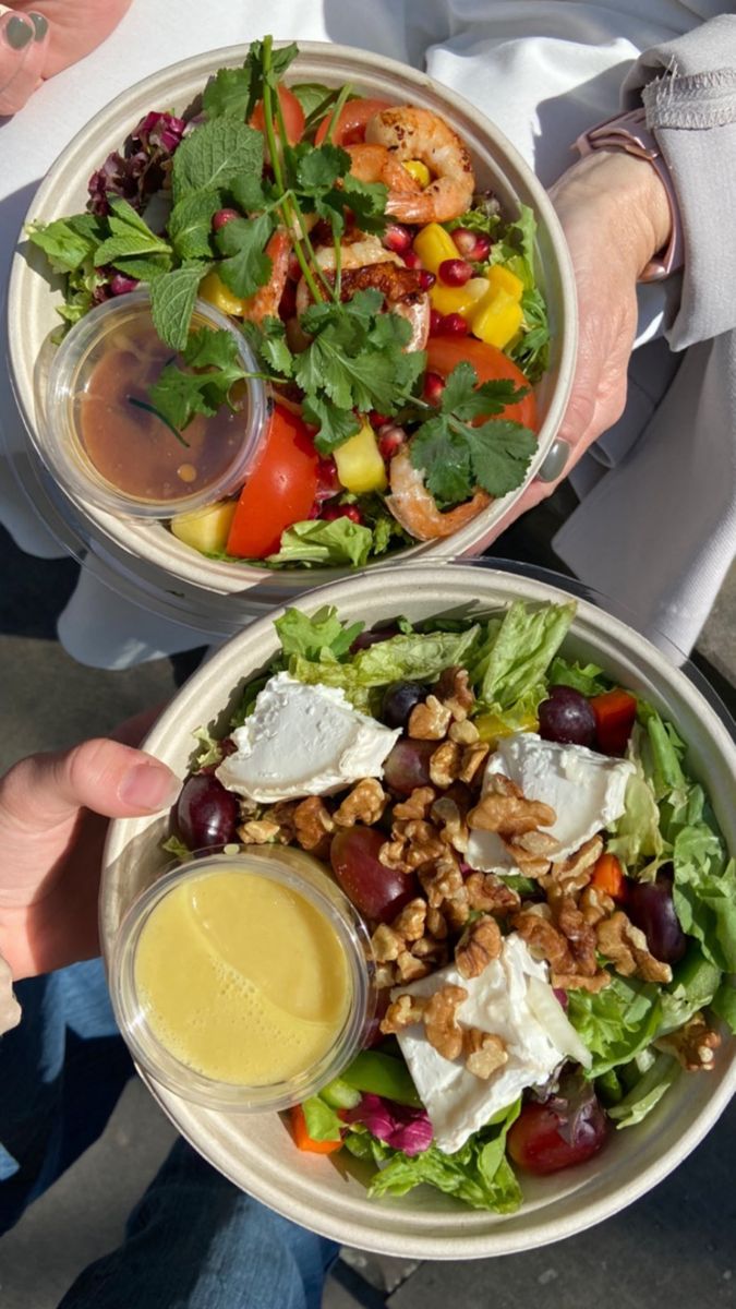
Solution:
<svg viewBox="0 0 736 1309">
<path fill-rule="evenodd" d="M 241 64 L 246 51 L 248 46 L 234 46 L 198 55 L 119 96 L 59 156 L 33 200 L 26 221 L 48 223 L 84 209 L 92 171 L 110 151 L 122 145 L 144 113 L 149 109 L 182 111 L 203 89 L 211 73 L 224 65 Z M 331 85 L 351 81 L 369 96 L 406 99 L 437 110 L 466 141 L 479 187 L 492 186 L 509 215 L 517 212 L 520 202 L 534 209 L 541 284 L 550 309 L 551 363 L 537 387 L 541 427 L 537 453 L 528 474 L 532 478 L 559 428 L 570 394 L 576 347 L 576 300 L 570 258 L 543 187 L 492 123 L 468 101 L 423 73 L 346 46 L 303 42 L 300 51 L 287 80 Z M 38 429 L 39 394 L 48 367 L 47 338 L 59 325 L 55 305 L 60 298 L 59 281 L 51 279 L 50 284 L 42 251 L 24 242 L 10 274 L 8 335 L 13 386 L 31 436 Z M 45 516 L 47 496 L 39 490 L 38 478 L 26 470 L 24 480 Z M 491 504 L 448 541 L 416 545 L 402 551 L 401 558 L 481 554 L 519 495 L 520 491 L 516 491 Z M 56 493 L 54 499 L 59 503 Z M 77 521 L 92 550 L 113 560 L 127 577 L 140 580 L 141 603 L 147 609 L 156 609 L 157 597 L 164 597 L 169 617 L 173 606 L 182 620 L 204 628 L 210 624 L 219 632 L 236 631 L 244 617 L 266 613 L 308 586 L 343 575 L 335 569 L 268 572 L 212 560 L 177 541 L 161 524 L 117 517 L 79 500 L 73 504 L 67 501 L 67 507 L 68 514 L 64 516 Z"/>
</svg>

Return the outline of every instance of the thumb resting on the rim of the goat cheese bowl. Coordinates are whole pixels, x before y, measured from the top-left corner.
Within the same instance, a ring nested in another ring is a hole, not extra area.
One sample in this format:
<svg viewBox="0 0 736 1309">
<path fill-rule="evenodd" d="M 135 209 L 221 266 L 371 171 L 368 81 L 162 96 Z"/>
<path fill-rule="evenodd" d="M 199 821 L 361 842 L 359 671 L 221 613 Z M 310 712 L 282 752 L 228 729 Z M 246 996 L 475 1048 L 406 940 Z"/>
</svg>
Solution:
<svg viewBox="0 0 736 1309">
<path fill-rule="evenodd" d="M 14 826 L 47 831 L 90 809 L 107 818 L 157 813 L 175 800 L 181 781 L 143 750 L 103 738 L 60 754 L 35 754 L 0 781 L 3 810 Z"/>
</svg>

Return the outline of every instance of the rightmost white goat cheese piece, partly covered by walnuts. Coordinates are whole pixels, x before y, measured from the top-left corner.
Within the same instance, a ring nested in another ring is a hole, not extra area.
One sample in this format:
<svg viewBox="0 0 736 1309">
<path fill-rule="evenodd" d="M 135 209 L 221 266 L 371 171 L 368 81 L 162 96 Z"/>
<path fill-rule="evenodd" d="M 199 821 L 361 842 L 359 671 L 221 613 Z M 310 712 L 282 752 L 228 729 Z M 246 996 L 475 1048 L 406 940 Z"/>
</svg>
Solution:
<svg viewBox="0 0 736 1309">
<path fill-rule="evenodd" d="M 542 831 L 561 844 L 558 859 L 575 850 L 619 818 L 626 805 L 626 785 L 634 772 L 627 759 L 612 759 L 583 745 L 542 741 L 536 732 L 519 732 L 499 741 L 486 764 L 482 795 L 495 772 L 511 778 L 526 800 L 541 800 L 557 818 Z M 471 831 L 468 863 L 482 872 L 519 872 L 502 839 L 492 831 Z"/>
</svg>

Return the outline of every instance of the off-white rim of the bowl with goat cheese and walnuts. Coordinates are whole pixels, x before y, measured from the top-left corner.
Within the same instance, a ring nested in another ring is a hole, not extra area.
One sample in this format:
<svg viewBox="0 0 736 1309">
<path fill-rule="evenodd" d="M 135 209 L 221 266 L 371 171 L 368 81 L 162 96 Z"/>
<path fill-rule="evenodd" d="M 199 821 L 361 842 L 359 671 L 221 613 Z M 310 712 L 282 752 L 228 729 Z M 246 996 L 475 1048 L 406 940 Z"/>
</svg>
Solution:
<svg viewBox="0 0 736 1309">
<path fill-rule="evenodd" d="M 451 581 L 447 568 L 415 565 L 413 568 L 394 568 L 390 573 L 392 580 L 388 577 L 382 579 L 388 590 L 392 588 L 398 589 L 399 585 L 403 585 L 406 589 L 411 589 L 416 593 L 431 593 L 432 596 L 436 596 L 437 607 L 441 607 L 444 603 L 444 594 L 449 592 L 451 597 L 453 596 L 453 581 Z M 578 596 L 566 592 L 563 586 L 553 586 L 549 583 L 540 583 L 534 579 L 520 579 L 516 575 L 503 572 L 499 573 L 494 569 L 483 569 L 482 576 L 478 576 L 477 567 L 462 563 L 453 565 L 453 577 L 456 583 L 460 581 L 461 585 L 466 583 L 469 588 L 471 586 L 470 594 L 462 596 L 462 602 L 465 605 L 471 603 L 470 596 L 473 596 L 474 601 L 483 603 L 487 598 L 488 605 L 502 607 L 519 593 L 521 593 L 521 597 L 528 601 L 559 602 L 570 598 L 576 600 L 578 611 L 575 622 L 584 630 L 583 639 L 585 635 L 589 639 L 593 639 L 595 636 L 601 640 L 605 639 L 610 645 L 612 660 L 618 652 L 617 643 L 619 643 L 622 651 L 630 658 L 636 658 L 638 662 L 643 664 L 647 672 L 651 665 L 661 682 L 661 687 L 659 690 L 660 698 L 667 695 L 672 695 L 674 698 L 676 695 L 680 695 L 681 700 L 685 702 L 693 713 L 697 708 L 701 720 L 707 725 L 707 738 L 708 744 L 714 746 L 715 758 L 719 762 L 726 761 L 729 775 L 736 778 L 736 742 L 732 740 L 727 726 L 719 719 L 716 709 L 708 704 L 702 692 L 689 681 L 685 673 L 673 666 L 669 660 L 667 660 L 661 652 L 656 649 L 656 647 L 630 628 L 626 623 L 621 622 L 621 619 L 609 615 L 589 601 L 580 600 Z M 306 611 L 314 611 L 325 603 L 335 603 L 339 613 L 340 600 L 343 602 L 348 600 L 350 590 L 355 593 L 356 590 L 360 592 L 360 589 L 365 586 L 375 588 L 376 581 L 377 579 L 373 575 L 372 577 L 364 576 L 364 579 L 359 580 L 358 584 L 355 579 L 348 579 L 342 583 L 320 586 L 308 596 L 300 597 L 299 603 L 300 606 L 304 606 Z M 492 592 L 492 594 L 485 597 L 483 590 Z M 460 594 L 460 589 L 457 589 L 457 594 Z M 354 594 L 352 603 L 356 605 L 359 598 L 359 596 Z M 245 668 L 246 661 L 242 658 L 242 654 L 248 651 L 249 645 L 254 644 L 257 647 L 248 664 L 249 674 L 255 672 L 262 661 L 267 660 L 268 649 L 272 649 L 276 644 L 272 622 L 280 615 L 280 613 L 283 613 L 283 610 L 274 611 L 271 615 L 259 619 L 215 653 L 212 658 L 203 665 L 203 668 L 196 672 L 193 678 L 190 678 L 190 682 L 186 683 L 186 686 L 190 687 L 190 696 L 195 695 L 198 691 L 203 691 L 207 683 L 211 685 L 212 682 L 221 681 L 223 695 L 219 703 L 224 708 L 228 695 L 233 691 L 234 682 L 240 682 L 245 675 L 242 669 Z M 270 641 L 267 640 L 268 634 L 271 636 Z M 646 656 L 644 658 L 640 658 L 642 653 Z M 233 654 L 238 656 L 237 670 L 229 666 L 233 661 Z M 644 673 L 642 673 L 642 675 L 644 675 Z M 225 690 L 227 687 L 229 687 L 229 690 Z M 183 689 L 179 692 L 179 696 L 182 694 Z M 202 696 L 199 698 L 202 699 Z M 158 741 L 166 738 L 170 724 L 173 724 L 177 720 L 177 716 L 181 715 L 181 708 L 177 713 L 174 712 L 177 702 L 178 698 L 164 712 L 144 742 L 144 747 L 152 750 L 155 754 L 157 753 Z M 169 742 L 169 746 L 170 749 L 175 749 L 173 741 Z M 109 881 L 111 876 L 110 868 L 114 859 L 124 850 L 124 830 L 126 823 L 130 822 L 131 819 L 122 819 L 111 823 L 107 836 L 101 890 L 101 940 L 103 941 L 103 945 L 106 940 L 105 897 L 109 890 Z M 731 819 L 728 826 L 733 827 L 733 819 Z M 177 1128 L 187 1138 L 187 1140 L 190 1140 L 191 1144 L 200 1152 L 206 1151 L 210 1161 L 215 1164 L 215 1166 L 217 1166 L 227 1177 L 229 1177 L 230 1181 L 242 1187 L 244 1179 L 242 1175 L 238 1177 L 237 1162 L 233 1160 L 227 1139 L 219 1140 L 211 1134 L 207 1138 L 206 1145 L 203 1145 L 203 1135 L 207 1132 L 207 1124 L 203 1127 L 203 1124 L 196 1121 L 196 1115 L 193 1115 L 189 1111 L 189 1106 L 182 1106 L 181 1102 L 177 1103 L 175 1097 L 162 1094 L 158 1088 L 153 1086 L 151 1081 L 148 1081 L 148 1079 L 144 1080 L 147 1080 L 147 1084 L 153 1092 L 160 1106 L 173 1119 Z M 537 1247 L 547 1245 L 553 1241 L 580 1233 L 593 1224 L 610 1217 L 626 1204 L 633 1203 L 635 1199 L 646 1194 L 651 1190 L 651 1187 L 667 1177 L 668 1173 L 671 1173 L 695 1148 L 707 1131 L 714 1126 L 735 1092 L 736 1043 L 728 1056 L 728 1063 L 723 1067 L 720 1081 L 714 1086 L 708 1101 L 694 1113 L 694 1117 L 686 1121 L 685 1130 L 677 1136 L 676 1143 L 665 1149 L 664 1153 L 655 1156 L 650 1162 L 644 1162 L 644 1166 L 635 1177 L 625 1178 L 618 1185 L 614 1185 L 613 1190 L 597 1181 L 592 1182 L 592 1185 L 585 1189 L 585 1183 L 581 1182 L 583 1203 L 578 1202 L 578 1208 L 572 1212 L 549 1219 L 545 1217 L 545 1215 L 550 1212 L 547 1202 L 545 1202 L 541 1211 L 538 1207 L 532 1207 L 526 1211 L 530 1217 L 530 1223 L 524 1223 L 520 1228 L 509 1228 L 507 1225 L 508 1221 L 513 1220 L 513 1216 L 511 1216 L 509 1220 L 504 1220 L 503 1217 L 495 1215 L 486 1215 L 487 1225 L 485 1229 L 473 1230 L 474 1215 L 473 1211 L 470 1211 L 470 1216 L 466 1217 L 465 1223 L 460 1219 L 458 1234 L 437 1234 L 444 1217 L 444 1215 L 439 1213 L 435 1216 L 430 1213 L 426 1221 L 418 1224 L 419 1230 L 414 1230 L 407 1234 L 406 1230 L 402 1230 L 401 1211 L 390 1210 L 386 1206 L 376 1204 L 375 1202 L 364 1202 L 365 1204 L 372 1203 L 372 1208 L 376 1211 L 376 1219 L 373 1223 L 369 1223 L 365 1216 L 354 1216 L 350 1213 L 350 1203 L 346 1203 L 347 1198 L 343 1198 L 342 1202 L 344 1211 L 343 1215 L 340 1217 L 335 1217 L 331 1211 L 322 1212 L 314 1200 L 310 1204 L 305 1196 L 296 1195 L 295 1191 L 287 1195 L 283 1181 L 278 1175 L 275 1178 L 271 1177 L 270 1173 L 263 1172 L 263 1169 L 258 1169 L 255 1175 L 253 1175 L 251 1168 L 251 1175 L 246 1177 L 246 1186 L 259 1200 L 283 1213 L 285 1217 L 289 1217 L 292 1221 L 301 1223 L 303 1225 L 333 1240 L 386 1255 L 426 1259 L 458 1259 L 517 1253 L 532 1246 Z M 680 1115 L 685 1117 L 685 1106 L 680 1110 Z M 224 1132 L 224 1138 L 227 1138 L 227 1131 Z M 638 1153 L 642 1155 L 644 1148 L 646 1145 L 640 1144 Z M 634 1153 L 636 1155 L 636 1151 Z M 257 1168 L 257 1165 L 254 1166 Z M 248 1172 L 249 1165 L 241 1165 L 241 1168 L 245 1168 Z M 308 1179 L 305 1186 L 308 1186 Z M 571 1203 L 576 1203 L 575 1195 L 572 1195 Z M 554 1212 L 554 1206 L 551 1208 Z M 521 1210 L 520 1213 L 524 1215 L 524 1210 Z M 392 1219 L 394 1220 L 393 1223 Z"/>
</svg>

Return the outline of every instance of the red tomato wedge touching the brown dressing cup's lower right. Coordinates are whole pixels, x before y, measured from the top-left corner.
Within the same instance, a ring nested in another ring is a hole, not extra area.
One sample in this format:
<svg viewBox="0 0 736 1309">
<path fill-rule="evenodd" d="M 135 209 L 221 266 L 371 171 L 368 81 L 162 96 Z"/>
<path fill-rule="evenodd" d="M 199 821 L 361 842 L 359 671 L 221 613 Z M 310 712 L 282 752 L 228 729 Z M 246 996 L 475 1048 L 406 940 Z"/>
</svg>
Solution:
<svg viewBox="0 0 736 1309">
<path fill-rule="evenodd" d="M 238 559 L 272 555 L 284 528 L 308 517 L 317 492 L 318 466 L 303 420 L 276 404 L 258 462 L 240 493 L 228 554 Z"/>
</svg>

